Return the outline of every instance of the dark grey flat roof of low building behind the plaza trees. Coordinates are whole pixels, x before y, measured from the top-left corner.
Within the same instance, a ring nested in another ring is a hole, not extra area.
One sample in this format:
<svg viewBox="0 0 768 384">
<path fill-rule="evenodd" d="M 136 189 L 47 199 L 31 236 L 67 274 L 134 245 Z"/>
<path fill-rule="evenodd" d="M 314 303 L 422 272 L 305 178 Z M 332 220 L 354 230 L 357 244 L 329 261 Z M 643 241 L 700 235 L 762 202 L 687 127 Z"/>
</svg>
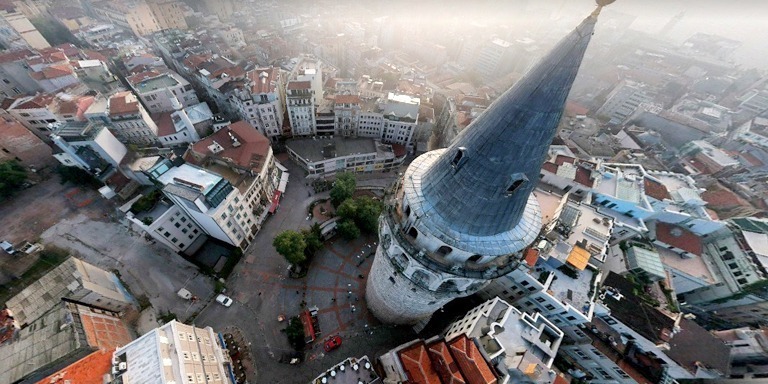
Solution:
<svg viewBox="0 0 768 384">
<path fill-rule="evenodd" d="M 331 145 L 335 146 L 335 156 L 328 151 Z M 343 139 L 339 137 L 317 139 L 295 139 L 289 141 L 286 146 L 309 162 L 330 160 L 337 157 L 379 154 L 374 139 Z M 382 153 L 383 155 L 383 153 Z"/>
</svg>

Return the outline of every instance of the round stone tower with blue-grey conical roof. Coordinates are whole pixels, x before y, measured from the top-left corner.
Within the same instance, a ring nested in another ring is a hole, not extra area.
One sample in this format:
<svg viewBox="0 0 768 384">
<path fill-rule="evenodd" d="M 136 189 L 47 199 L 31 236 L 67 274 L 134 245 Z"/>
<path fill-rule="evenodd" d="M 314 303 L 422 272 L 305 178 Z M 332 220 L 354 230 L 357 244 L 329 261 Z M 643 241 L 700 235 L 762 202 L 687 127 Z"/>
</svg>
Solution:
<svg viewBox="0 0 768 384">
<path fill-rule="evenodd" d="M 368 307 L 379 320 L 425 324 L 452 299 L 517 268 L 541 229 L 531 192 L 601 8 L 500 96 L 472 130 L 408 167 L 394 205 L 380 219 L 367 282 Z"/>
</svg>

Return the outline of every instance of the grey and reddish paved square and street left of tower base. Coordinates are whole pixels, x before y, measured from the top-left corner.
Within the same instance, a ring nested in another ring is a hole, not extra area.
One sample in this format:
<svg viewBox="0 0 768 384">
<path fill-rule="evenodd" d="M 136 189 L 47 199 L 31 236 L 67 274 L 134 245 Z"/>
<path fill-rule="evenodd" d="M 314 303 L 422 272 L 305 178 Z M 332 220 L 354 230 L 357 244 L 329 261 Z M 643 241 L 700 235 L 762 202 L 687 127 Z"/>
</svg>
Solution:
<svg viewBox="0 0 768 384">
<path fill-rule="evenodd" d="M 407 328 L 382 327 L 368 313 L 364 289 L 375 237 L 350 243 L 340 239 L 328 242 L 315 256 L 305 278 L 288 277 L 288 263 L 272 247 L 272 239 L 286 229 L 309 227 L 313 221 L 307 220 L 307 207 L 327 197 L 328 192 L 310 195 L 303 171 L 284 157 L 281 163 L 291 174 L 290 182 L 277 214 L 264 224 L 246 252 L 245 261 L 227 282 L 235 303 L 230 308 L 210 304 L 195 321 L 215 329 L 236 326 L 250 336 L 259 383 L 308 382 L 347 356 L 368 354 L 373 358 L 413 337 Z M 395 175 L 365 175 L 358 185 L 383 188 Z M 302 302 L 318 307 L 323 336 L 307 350 L 307 361 L 301 365 L 277 364 L 282 353 L 292 351 L 281 332 L 286 322 L 278 322 L 277 317 L 297 315 L 303 309 Z M 342 336 L 343 344 L 326 355 L 322 342 L 335 334 Z"/>
</svg>

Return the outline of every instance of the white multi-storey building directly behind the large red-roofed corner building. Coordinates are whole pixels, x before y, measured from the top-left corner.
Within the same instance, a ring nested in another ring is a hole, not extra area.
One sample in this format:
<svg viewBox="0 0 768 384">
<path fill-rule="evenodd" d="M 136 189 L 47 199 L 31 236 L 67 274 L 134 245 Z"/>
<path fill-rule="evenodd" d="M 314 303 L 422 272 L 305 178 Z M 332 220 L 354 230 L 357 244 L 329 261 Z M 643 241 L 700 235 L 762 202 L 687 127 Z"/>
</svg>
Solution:
<svg viewBox="0 0 768 384">
<path fill-rule="evenodd" d="M 275 141 L 283 135 L 284 90 L 279 68 L 257 68 L 246 73 L 246 80 L 230 92 L 229 99 L 243 120 Z M 294 106 L 293 115 L 304 116 L 309 109 L 302 108 Z"/>
</svg>

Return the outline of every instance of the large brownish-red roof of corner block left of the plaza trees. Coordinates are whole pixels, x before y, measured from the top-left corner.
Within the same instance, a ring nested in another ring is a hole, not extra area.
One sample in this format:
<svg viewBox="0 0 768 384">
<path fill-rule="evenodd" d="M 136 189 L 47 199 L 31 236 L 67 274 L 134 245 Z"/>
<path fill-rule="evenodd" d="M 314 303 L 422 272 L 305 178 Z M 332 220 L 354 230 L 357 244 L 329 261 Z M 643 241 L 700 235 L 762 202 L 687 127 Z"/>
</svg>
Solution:
<svg viewBox="0 0 768 384">
<path fill-rule="evenodd" d="M 240 143 L 240 146 L 234 147 L 232 145 L 232 139 L 229 136 L 230 132 Z M 221 145 L 224 150 L 217 154 L 212 153 L 208 146 L 213 144 L 214 141 Z M 255 128 L 245 121 L 238 121 L 198 141 L 190 148 L 198 158 L 204 158 L 205 156 L 230 158 L 240 167 L 261 169 L 263 161 L 269 154 L 270 144 L 269 139 L 264 137 Z"/>
</svg>

